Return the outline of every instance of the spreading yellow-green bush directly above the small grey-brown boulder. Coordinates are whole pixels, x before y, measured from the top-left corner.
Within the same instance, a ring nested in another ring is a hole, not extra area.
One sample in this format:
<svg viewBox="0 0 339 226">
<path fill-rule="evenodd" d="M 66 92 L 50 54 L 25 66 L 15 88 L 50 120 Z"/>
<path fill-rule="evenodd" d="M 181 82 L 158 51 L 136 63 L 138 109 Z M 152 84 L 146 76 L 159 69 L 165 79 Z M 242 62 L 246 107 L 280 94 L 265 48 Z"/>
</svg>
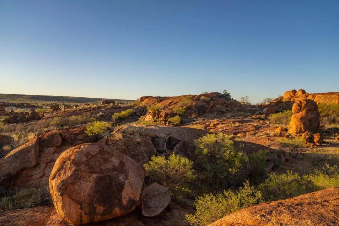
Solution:
<svg viewBox="0 0 339 226">
<path fill-rule="evenodd" d="M 176 154 L 169 156 L 152 156 L 151 161 L 144 164 L 145 175 L 169 189 L 175 199 L 184 197 L 190 190 L 187 185 L 196 179 L 193 174 L 193 162 Z"/>
</svg>

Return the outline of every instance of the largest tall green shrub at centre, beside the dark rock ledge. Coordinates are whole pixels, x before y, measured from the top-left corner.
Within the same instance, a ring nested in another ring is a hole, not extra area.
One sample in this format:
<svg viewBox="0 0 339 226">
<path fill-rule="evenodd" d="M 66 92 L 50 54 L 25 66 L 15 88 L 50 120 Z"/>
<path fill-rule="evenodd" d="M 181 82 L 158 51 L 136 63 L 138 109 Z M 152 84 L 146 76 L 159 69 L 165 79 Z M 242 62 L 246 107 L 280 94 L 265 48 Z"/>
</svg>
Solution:
<svg viewBox="0 0 339 226">
<path fill-rule="evenodd" d="M 207 134 L 194 142 L 198 168 L 211 180 L 236 185 L 247 176 L 248 158 L 224 133 Z"/>
</svg>

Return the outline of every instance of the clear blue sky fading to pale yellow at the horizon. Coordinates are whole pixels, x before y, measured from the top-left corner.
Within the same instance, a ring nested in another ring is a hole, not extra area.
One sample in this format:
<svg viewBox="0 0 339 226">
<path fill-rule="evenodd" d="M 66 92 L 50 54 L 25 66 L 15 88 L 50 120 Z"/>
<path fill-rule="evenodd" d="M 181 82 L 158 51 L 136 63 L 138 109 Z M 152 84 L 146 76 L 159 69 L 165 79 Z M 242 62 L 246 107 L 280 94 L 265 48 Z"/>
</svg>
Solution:
<svg viewBox="0 0 339 226">
<path fill-rule="evenodd" d="M 339 91 L 338 0 L 0 0 L 0 93 Z"/>
</svg>

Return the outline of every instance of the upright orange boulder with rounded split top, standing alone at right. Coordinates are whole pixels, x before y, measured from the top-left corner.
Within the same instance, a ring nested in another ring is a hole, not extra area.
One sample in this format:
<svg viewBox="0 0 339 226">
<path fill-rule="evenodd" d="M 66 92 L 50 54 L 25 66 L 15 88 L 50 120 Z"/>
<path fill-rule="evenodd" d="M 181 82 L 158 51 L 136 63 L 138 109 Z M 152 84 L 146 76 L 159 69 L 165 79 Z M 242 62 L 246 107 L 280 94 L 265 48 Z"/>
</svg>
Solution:
<svg viewBox="0 0 339 226">
<path fill-rule="evenodd" d="M 320 125 L 318 105 L 313 100 L 300 100 L 292 106 L 292 119 L 289 133 L 317 132 Z"/>
</svg>

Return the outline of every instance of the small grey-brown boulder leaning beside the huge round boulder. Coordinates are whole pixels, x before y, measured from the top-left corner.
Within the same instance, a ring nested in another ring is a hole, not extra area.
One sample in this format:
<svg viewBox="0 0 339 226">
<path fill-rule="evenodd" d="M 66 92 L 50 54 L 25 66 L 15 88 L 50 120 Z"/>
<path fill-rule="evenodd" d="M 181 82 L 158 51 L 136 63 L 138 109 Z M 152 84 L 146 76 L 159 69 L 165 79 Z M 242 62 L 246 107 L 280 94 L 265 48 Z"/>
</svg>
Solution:
<svg viewBox="0 0 339 226">
<path fill-rule="evenodd" d="M 168 188 L 157 183 L 146 187 L 141 194 L 142 215 L 153 217 L 161 213 L 171 201 Z"/>
</svg>

